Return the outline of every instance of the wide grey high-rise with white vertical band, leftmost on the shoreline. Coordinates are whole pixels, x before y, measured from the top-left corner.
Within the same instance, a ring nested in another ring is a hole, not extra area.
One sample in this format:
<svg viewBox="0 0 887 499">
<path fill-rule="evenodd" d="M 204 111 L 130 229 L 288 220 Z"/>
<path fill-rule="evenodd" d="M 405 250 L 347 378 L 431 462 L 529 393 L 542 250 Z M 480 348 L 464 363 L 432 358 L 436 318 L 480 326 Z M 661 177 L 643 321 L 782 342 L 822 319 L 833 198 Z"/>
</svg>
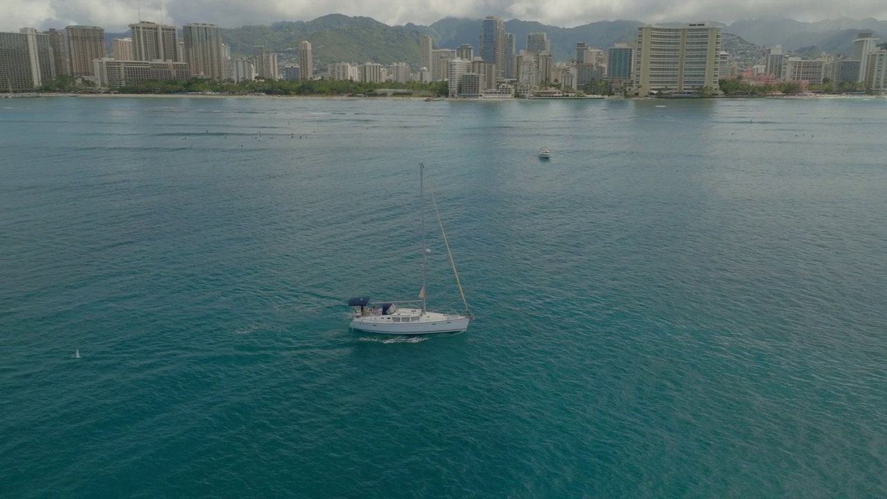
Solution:
<svg viewBox="0 0 887 499">
<path fill-rule="evenodd" d="M 0 89 L 33 91 L 54 78 L 50 36 L 35 28 L 0 33 Z"/>
</svg>

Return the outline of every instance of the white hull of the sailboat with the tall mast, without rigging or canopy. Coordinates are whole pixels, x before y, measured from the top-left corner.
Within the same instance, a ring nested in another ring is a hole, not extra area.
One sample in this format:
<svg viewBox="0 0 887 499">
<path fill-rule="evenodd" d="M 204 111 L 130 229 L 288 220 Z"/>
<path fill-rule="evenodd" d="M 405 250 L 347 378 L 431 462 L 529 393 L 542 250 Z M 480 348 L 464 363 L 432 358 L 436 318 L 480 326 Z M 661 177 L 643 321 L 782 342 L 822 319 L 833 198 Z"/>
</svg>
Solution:
<svg viewBox="0 0 887 499">
<path fill-rule="evenodd" d="M 455 313 L 422 313 L 419 309 L 400 309 L 393 315 L 355 316 L 351 329 L 383 335 L 430 335 L 460 333 L 468 329 L 468 317 Z"/>
</svg>

